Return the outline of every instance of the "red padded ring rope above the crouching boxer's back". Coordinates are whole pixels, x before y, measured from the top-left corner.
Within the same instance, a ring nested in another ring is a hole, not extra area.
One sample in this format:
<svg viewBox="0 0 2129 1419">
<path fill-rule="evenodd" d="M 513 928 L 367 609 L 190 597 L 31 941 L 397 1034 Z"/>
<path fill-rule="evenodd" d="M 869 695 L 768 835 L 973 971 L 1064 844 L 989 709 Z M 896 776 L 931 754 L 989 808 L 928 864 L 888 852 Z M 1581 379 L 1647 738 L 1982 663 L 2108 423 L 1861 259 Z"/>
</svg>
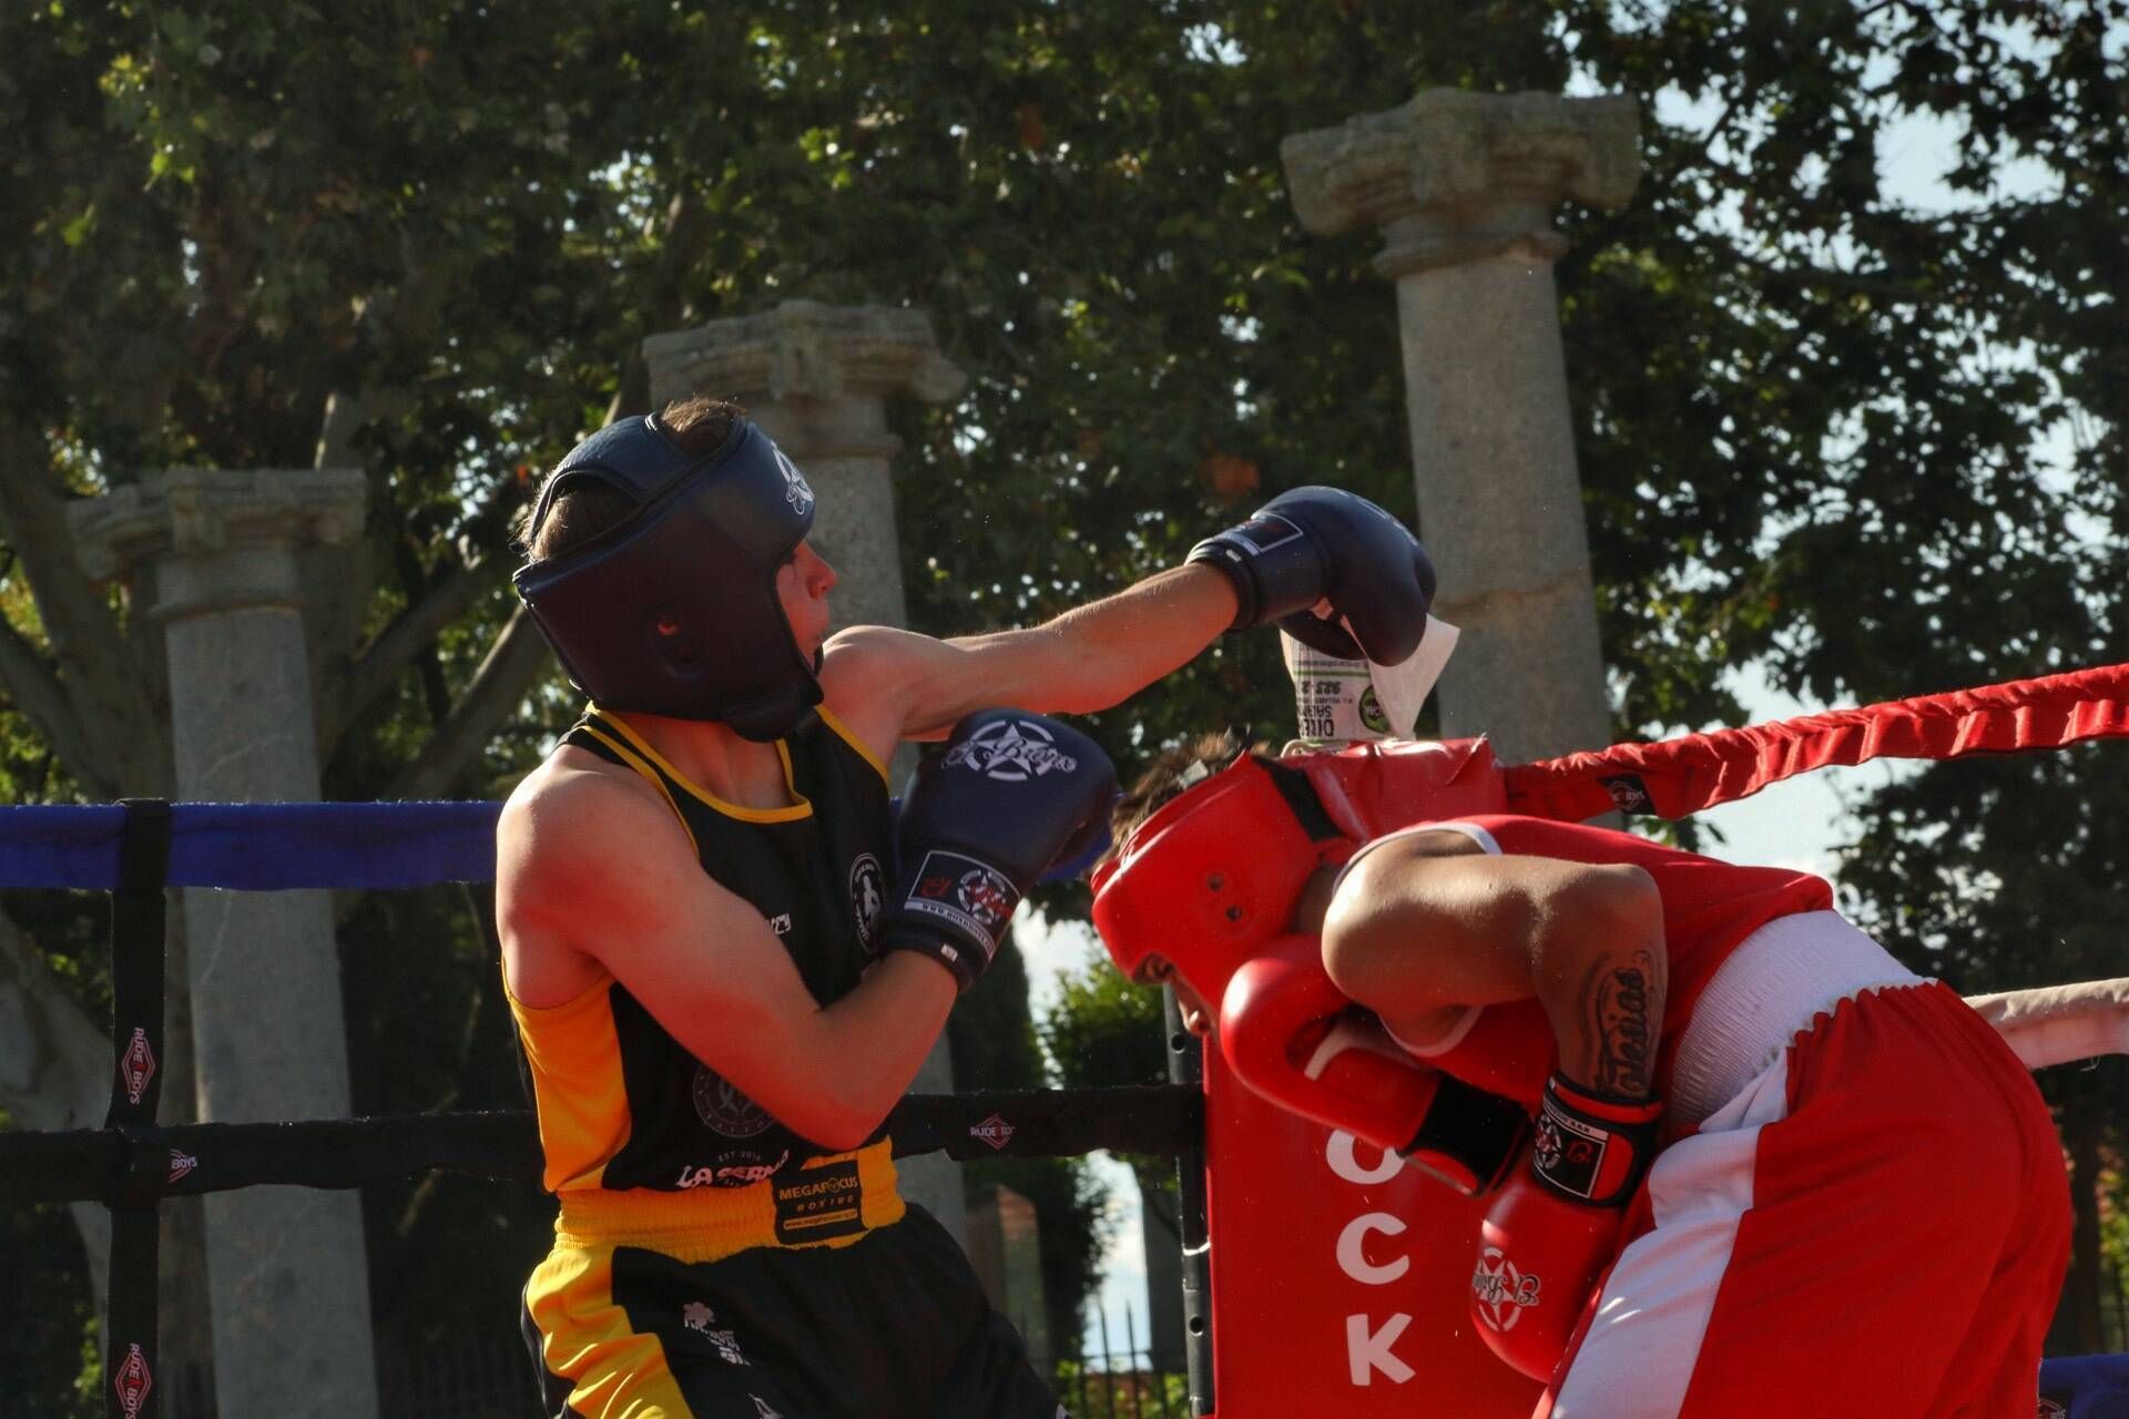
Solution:
<svg viewBox="0 0 2129 1419">
<path fill-rule="evenodd" d="M 2129 738 L 2129 664 L 1801 715 L 1744 730 L 1612 745 L 1503 768 L 1507 811 L 1582 821 L 1624 808 L 1684 817 L 1769 783 L 1869 759 L 1961 759 Z"/>
</svg>

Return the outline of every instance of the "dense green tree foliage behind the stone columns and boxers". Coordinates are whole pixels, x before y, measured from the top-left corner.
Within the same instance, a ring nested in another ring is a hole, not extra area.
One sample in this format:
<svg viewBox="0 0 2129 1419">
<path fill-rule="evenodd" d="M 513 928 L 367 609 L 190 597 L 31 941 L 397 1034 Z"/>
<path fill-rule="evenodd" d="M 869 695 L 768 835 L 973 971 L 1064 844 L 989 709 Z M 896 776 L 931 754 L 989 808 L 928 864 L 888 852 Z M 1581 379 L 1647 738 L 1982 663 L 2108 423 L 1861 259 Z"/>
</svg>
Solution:
<svg viewBox="0 0 2129 1419">
<path fill-rule="evenodd" d="M 894 411 L 922 630 L 1058 611 L 1297 483 L 1409 515 L 1375 236 L 1307 236 L 1277 153 L 1431 85 L 1641 100 L 1641 189 L 1565 211 L 1558 266 L 1622 732 L 1735 721 L 1752 660 L 1831 702 L 2101 657 L 2125 23 L 2120 0 L 4 6 L 0 774 L 32 802 L 170 787 L 160 632 L 79 570 L 70 500 L 326 464 L 370 489 L 362 540 L 309 566 L 326 791 L 494 794 L 568 713 L 502 579 L 532 472 L 643 406 L 641 336 L 786 298 L 915 306 L 971 374 Z M 1922 204 L 1903 157 L 1935 138 Z M 1216 723 L 1282 738 L 1288 706 L 1271 640 L 1231 638 L 1096 732 L 1128 772 Z M 1944 883 L 2029 881 L 2010 823 L 2103 838 L 2106 764 L 1927 774 L 1850 881 L 1963 932 L 1978 985 L 2061 979 L 2076 951 L 2020 953 L 2067 917 L 2020 930 Z M 2123 881 L 2112 842 L 2080 851 Z M 96 1004 L 79 932 L 9 921 L 0 983 L 34 940 Z M 468 1047 L 496 1019 L 477 913 L 366 904 L 343 940 L 379 1100 L 500 1087 Z M 379 1070 L 387 1047 L 419 1064 Z M 381 1274 L 436 1283 L 407 1259 L 439 1247 L 424 1206 L 373 1215 Z"/>
</svg>

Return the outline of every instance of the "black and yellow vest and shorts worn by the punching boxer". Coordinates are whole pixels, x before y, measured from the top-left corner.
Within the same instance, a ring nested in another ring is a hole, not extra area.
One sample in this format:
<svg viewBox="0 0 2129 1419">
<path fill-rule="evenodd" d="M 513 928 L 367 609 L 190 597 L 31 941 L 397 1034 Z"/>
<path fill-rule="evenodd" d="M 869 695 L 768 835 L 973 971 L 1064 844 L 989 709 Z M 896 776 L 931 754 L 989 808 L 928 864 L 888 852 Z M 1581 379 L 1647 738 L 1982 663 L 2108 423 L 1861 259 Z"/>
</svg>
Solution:
<svg viewBox="0 0 2129 1419">
<path fill-rule="evenodd" d="M 884 766 L 832 715 L 779 740 L 792 804 L 766 811 L 720 802 L 596 706 L 564 742 L 658 787 L 815 1000 L 858 983 L 892 819 Z M 903 1202 L 884 1128 L 813 1145 L 611 979 L 511 1013 L 562 1204 L 524 1293 L 551 1417 L 1062 1413 L 954 1240 Z"/>
</svg>

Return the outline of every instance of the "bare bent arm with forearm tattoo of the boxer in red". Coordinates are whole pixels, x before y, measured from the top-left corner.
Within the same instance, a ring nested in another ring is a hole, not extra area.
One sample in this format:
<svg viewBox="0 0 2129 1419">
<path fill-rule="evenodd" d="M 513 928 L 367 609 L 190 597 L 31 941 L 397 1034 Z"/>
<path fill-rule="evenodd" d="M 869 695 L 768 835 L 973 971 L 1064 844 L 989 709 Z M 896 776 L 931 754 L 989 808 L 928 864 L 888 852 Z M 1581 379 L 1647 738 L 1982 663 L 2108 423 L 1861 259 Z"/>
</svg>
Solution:
<svg viewBox="0 0 2129 1419">
<path fill-rule="evenodd" d="M 1616 1098 L 1652 1087 L 1669 962 L 1663 902 L 1641 868 L 1412 834 L 1354 862 L 1322 942 L 1337 987 L 1409 1045 L 1467 1006 L 1535 996 L 1571 1083 Z"/>
</svg>

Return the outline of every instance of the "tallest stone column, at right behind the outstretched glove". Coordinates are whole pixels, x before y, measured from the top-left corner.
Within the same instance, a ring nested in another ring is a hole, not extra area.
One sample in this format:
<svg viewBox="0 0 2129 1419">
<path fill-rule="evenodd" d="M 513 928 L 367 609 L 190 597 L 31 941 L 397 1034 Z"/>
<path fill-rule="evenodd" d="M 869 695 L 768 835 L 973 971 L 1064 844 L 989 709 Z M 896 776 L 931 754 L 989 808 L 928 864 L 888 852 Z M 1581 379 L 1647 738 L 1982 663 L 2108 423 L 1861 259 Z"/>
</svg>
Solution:
<svg viewBox="0 0 2129 1419">
<path fill-rule="evenodd" d="M 1303 226 L 1384 232 L 1435 613 L 1465 632 L 1441 730 L 1507 764 L 1612 742 L 1552 208 L 1627 202 L 1637 123 L 1631 98 L 1429 89 L 1280 149 Z"/>
</svg>

